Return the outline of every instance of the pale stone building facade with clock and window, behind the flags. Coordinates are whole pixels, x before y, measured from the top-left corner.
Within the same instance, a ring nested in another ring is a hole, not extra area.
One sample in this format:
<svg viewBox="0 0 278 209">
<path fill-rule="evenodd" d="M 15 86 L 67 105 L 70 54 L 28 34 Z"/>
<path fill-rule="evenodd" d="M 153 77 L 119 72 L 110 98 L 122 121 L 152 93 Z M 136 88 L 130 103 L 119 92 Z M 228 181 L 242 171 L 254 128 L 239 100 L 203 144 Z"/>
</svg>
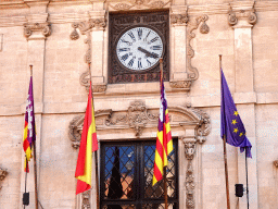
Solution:
<svg viewBox="0 0 278 209">
<path fill-rule="evenodd" d="M 0 0 L 0 208 L 23 208 L 29 65 L 41 208 L 97 208 L 96 173 L 78 196 L 74 177 L 90 76 L 101 207 L 163 208 L 162 186 L 150 186 L 160 58 L 175 147 L 169 208 L 226 208 L 219 54 L 252 144 L 250 208 L 276 209 L 277 1 Z M 112 198 L 117 149 L 122 195 Z M 247 194 L 235 196 L 235 184 L 245 186 L 244 153 L 227 145 L 227 159 L 231 208 L 247 208 Z M 31 160 L 27 208 L 35 208 L 33 168 Z"/>
</svg>

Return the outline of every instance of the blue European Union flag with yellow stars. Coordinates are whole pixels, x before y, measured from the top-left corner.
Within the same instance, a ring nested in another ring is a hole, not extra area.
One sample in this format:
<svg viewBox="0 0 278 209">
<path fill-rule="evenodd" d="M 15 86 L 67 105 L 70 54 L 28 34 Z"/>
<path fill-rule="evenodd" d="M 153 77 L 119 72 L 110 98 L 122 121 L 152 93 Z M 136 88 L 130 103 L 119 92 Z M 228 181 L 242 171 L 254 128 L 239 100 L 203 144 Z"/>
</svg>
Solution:
<svg viewBox="0 0 278 209">
<path fill-rule="evenodd" d="M 239 116 L 236 104 L 232 100 L 228 84 L 222 71 L 222 138 L 240 151 L 247 151 L 247 157 L 252 158 L 252 145 L 247 137 L 244 125 Z"/>
</svg>

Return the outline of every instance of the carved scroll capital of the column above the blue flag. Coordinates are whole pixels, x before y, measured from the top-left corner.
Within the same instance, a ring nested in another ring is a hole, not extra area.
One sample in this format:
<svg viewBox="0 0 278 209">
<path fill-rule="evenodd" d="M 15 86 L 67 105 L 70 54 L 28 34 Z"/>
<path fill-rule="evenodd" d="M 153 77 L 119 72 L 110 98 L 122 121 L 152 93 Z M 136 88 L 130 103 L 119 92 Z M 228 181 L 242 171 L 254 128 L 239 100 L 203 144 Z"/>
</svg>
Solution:
<svg viewBox="0 0 278 209">
<path fill-rule="evenodd" d="M 229 15 L 228 15 L 228 23 L 231 26 L 235 26 L 238 24 L 239 20 L 244 20 L 251 25 L 256 24 L 256 13 L 254 9 L 254 4 L 252 9 L 245 9 L 245 10 L 232 10 L 230 7 Z"/>
</svg>

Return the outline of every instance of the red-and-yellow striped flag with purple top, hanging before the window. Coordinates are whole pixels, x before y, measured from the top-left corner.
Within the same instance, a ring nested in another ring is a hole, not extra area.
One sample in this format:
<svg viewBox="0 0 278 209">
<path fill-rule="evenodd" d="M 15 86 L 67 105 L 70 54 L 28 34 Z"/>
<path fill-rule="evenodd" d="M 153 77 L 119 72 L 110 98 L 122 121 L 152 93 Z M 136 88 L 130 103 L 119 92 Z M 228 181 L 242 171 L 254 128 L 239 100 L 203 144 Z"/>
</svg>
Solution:
<svg viewBox="0 0 278 209">
<path fill-rule="evenodd" d="M 173 151 L 173 140 L 170 135 L 169 115 L 163 79 L 161 79 L 161 104 L 156 136 L 156 148 L 154 157 L 152 185 L 163 180 L 163 168 L 168 165 L 168 155 Z"/>
</svg>

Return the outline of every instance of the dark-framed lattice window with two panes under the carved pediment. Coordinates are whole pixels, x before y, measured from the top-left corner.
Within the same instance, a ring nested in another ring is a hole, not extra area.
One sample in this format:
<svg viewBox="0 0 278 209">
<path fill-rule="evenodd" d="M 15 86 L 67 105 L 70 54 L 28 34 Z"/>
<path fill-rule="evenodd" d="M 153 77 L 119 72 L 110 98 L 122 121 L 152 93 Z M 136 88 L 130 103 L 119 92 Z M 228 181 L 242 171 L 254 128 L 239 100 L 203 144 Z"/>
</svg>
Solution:
<svg viewBox="0 0 278 209">
<path fill-rule="evenodd" d="M 102 209 L 164 209 L 164 182 L 152 186 L 154 153 L 155 140 L 101 144 Z M 168 209 L 177 209 L 177 140 L 168 159 Z"/>
</svg>

